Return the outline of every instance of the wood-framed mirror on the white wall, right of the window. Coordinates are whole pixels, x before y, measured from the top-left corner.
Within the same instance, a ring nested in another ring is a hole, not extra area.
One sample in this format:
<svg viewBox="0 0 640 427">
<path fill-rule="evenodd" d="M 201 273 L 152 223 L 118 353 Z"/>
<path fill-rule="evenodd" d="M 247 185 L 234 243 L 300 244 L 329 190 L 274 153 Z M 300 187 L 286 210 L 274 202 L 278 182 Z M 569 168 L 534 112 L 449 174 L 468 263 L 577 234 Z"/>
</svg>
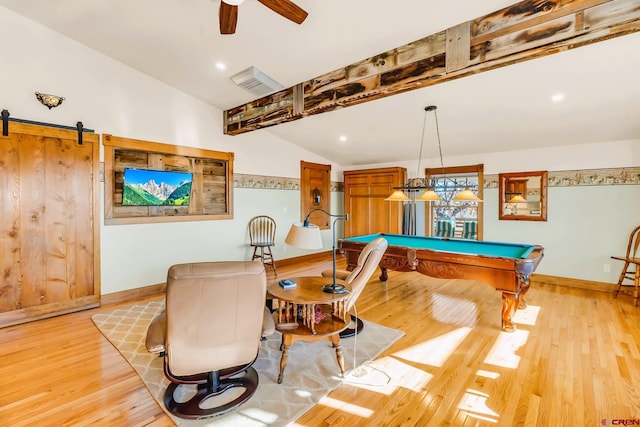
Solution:
<svg viewBox="0 0 640 427">
<path fill-rule="evenodd" d="M 499 174 L 498 218 L 547 220 L 547 171 Z"/>
</svg>

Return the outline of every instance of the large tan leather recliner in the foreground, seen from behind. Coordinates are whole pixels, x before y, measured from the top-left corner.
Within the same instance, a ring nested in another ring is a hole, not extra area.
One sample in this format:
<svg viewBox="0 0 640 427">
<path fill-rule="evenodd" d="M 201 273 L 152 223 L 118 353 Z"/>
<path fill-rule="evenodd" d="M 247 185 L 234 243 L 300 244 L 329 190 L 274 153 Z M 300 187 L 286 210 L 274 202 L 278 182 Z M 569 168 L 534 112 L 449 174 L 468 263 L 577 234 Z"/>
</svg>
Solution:
<svg viewBox="0 0 640 427">
<path fill-rule="evenodd" d="M 260 261 L 169 268 L 166 311 L 149 326 L 146 344 L 149 351 L 164 353 L 165 375 L 171 381 L 164 404 L 171 413 L 192 419 L 216 416 L 255 393 L 258 374 L 251 365 L 261 336 L 274 328 L 265 295 L 266 274 Z M 176 401 L 174 393 L 180 384 L 195 384 L 195 396 Z M 244 391 L 225 402 L 221 393 L 231 387 Z M 222 405 L 208 407 L 204 401 L 212 396 Z"/>
</svg>

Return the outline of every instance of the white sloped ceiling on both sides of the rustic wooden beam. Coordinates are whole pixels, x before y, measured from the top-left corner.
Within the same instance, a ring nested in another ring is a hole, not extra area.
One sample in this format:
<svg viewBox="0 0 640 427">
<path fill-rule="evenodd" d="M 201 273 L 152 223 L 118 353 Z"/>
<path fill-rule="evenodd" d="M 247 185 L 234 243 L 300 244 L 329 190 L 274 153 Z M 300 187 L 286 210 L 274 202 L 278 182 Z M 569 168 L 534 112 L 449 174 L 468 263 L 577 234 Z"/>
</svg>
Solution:
<svg viewBox="0 0 640 427">
<path fill-rule="evenodd" d="M 295 1 L 309 12 L 302 25 L 246 0 L 236 34 L 226 36 L 218 31 L 220 0 L 0 6 L 225 110 L 255 99 L 229 80 L 251 65 L 289 87 L 514 3 Z M 639 51 L 636 33 L 257 132 L 345 167 L 415 159 L 427 105 L 438 106 L 445 156 L 640 139 Z M 219 71 L 218 61 L 228 68 Z M 564 102 L 551 102 L 557 92 Z M 432 128 L 426 144 L 435 141 Z M 424 158 L 436 155 L 425 147 Z"/>
</svg>

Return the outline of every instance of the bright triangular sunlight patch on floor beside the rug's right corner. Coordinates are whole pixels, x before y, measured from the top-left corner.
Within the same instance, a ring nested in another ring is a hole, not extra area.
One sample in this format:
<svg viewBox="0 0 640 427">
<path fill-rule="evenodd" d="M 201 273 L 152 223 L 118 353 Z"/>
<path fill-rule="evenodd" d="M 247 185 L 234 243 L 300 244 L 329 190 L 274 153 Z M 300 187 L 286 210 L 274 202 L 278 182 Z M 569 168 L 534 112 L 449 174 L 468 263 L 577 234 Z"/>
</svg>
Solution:
<svg viewBox="0 0 640 427">
<path fill-rule="evenodd" d="M 458 328 L 439 337 L 397 351 L 394 356 L 425 365 L 442 367 L 470 332 L 471 328 Z"/>
</svg>

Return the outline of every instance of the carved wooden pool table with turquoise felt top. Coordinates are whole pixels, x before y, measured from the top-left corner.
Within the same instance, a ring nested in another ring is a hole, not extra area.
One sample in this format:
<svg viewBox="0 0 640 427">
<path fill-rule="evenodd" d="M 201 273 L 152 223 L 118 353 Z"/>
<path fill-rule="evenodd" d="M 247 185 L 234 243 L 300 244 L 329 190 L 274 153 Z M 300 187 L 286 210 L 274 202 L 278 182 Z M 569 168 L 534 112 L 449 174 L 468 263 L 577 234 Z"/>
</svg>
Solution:
<svg viewBox="0 0 640 427">
<path fill-rule="evenodd" d="M 502 330 L 506 332 L 516 330 L 511 318 L 516 309 L 526 307 L 529 276 L 544 255 L 538 245 L 378 233 L 340 239 L 347 269 L 356 267 L 360 252 L 376 237 L 389 243 L 379 265 L 380 280 L 387 280 L 389 269 L 487 283 L 502 292 Z"/>
</svg>

